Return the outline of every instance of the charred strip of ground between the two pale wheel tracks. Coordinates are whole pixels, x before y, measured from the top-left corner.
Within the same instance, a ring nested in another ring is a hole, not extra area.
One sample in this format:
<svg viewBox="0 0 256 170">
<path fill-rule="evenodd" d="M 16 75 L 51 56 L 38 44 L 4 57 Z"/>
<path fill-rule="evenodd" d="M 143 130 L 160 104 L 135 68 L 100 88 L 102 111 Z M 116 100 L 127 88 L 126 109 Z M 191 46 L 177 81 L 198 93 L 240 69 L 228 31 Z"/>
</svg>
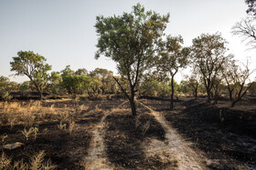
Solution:
<svg viewBox="0 0 256 170">
<path fill-rule="evenodd" d="M 165 140 L 165 130 L 153 115 L 146 114 L 143 107 L 138 108 L 140 125 L 135 128 L 135 117 L 130 110 L 123 109 L 106 117 L 106 154 L 115 169 L 165 169 L 176 167 L 176 161 L 164 162 L 157 155 L 146 156 L 144 140 L 155 138 Z M 144 133 L 144 125 L 150 122 Z"/>
</svg>

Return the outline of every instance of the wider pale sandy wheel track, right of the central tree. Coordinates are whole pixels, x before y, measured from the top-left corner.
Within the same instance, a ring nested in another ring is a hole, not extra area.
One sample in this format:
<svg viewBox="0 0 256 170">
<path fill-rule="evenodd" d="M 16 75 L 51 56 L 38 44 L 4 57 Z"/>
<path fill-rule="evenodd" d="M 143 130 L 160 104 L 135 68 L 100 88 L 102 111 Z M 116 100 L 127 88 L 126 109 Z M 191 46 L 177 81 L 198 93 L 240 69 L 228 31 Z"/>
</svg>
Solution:
<svg viewBox="0 0 256 170">
<path fill-rule="evenodd" d="M 150 110 L 150 114 L 155 116 L 155 119 L 163 126 L 165 129 L 165 142 L 161 142 L 156 139 L 149 139 L 144 143 L 145 153 L 147 155 L 158 155 L 162 160 L 168 159 L 170 157 L 176 158 L 178 161 L 178 169 L 207 169 L 202 162 L 206 159 L 196 153 L 189 147 L 187 143 L 176 130 L 169 125 L 165 117 L 161 113 L 155 112 L 152 108 L 143 103 L 139 102 L 145 108 Z"/>
</svg>

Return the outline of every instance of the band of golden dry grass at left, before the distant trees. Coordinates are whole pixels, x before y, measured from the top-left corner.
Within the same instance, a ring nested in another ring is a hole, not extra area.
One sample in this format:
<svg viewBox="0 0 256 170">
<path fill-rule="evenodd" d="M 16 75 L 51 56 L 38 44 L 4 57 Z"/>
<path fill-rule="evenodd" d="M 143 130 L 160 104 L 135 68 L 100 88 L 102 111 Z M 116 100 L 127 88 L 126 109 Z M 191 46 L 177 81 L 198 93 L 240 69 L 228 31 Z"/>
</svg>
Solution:
<svg viewBox="0 0 256 170">
<path fill-rule="evenodd" d="M 75 108 L 67 105 L 56 107 L 54 104 L 43 106 L 40 101 L 1 102 L 0 125 L 10 125 L 10 130 L 12 130 L 15 125 L 24 125 L 26 128 L 30 128 L 42 122 L 69 122 L 70 115 L 76 111 L 87 111 L 88 109 L 89 105 L 77 105 Z M 99 107 L 96 107 L 96 110 L 101 111 Z"/>
</svg>

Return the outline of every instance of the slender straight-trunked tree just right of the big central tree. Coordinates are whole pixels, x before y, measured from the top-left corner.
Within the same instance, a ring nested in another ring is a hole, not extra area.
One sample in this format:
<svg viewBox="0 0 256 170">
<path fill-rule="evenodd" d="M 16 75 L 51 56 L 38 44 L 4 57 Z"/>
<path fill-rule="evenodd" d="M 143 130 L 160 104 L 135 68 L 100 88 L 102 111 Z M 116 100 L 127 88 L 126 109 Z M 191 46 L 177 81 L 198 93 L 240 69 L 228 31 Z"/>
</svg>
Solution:
<svg viewBox="0 0 256 170">
<path fill-rule="evenodd" d="M 175 86 L 174 78 L 179 69 L 187 66 L 189 48 L 182 48 L 183 39 L 181 36 L 172 37 L 168 35 L 164 43 L 163 51 L 156 61 L 157 70 L 171 79 L 171 101 L 170 109 L 174 108 Z"/>
</svg>

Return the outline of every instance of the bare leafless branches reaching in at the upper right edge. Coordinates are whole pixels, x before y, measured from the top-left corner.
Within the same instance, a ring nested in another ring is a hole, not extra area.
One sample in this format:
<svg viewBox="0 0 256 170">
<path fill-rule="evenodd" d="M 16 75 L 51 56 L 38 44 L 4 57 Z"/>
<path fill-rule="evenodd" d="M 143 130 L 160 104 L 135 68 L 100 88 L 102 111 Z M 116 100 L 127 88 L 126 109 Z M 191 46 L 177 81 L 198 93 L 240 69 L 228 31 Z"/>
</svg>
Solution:
<svg viewBox="0 0 256 170">
<path fill-rule="evenodd" d="M 232 34 L 240 35 L 242 37 L 242 42 L 246 42 L 246 45 L 251 45 L 251 48 L 255 48 L 256 47 L 255 26 L 256 26 L 255 17 L 249 15 L 232 27 Z"/>
</svg>

